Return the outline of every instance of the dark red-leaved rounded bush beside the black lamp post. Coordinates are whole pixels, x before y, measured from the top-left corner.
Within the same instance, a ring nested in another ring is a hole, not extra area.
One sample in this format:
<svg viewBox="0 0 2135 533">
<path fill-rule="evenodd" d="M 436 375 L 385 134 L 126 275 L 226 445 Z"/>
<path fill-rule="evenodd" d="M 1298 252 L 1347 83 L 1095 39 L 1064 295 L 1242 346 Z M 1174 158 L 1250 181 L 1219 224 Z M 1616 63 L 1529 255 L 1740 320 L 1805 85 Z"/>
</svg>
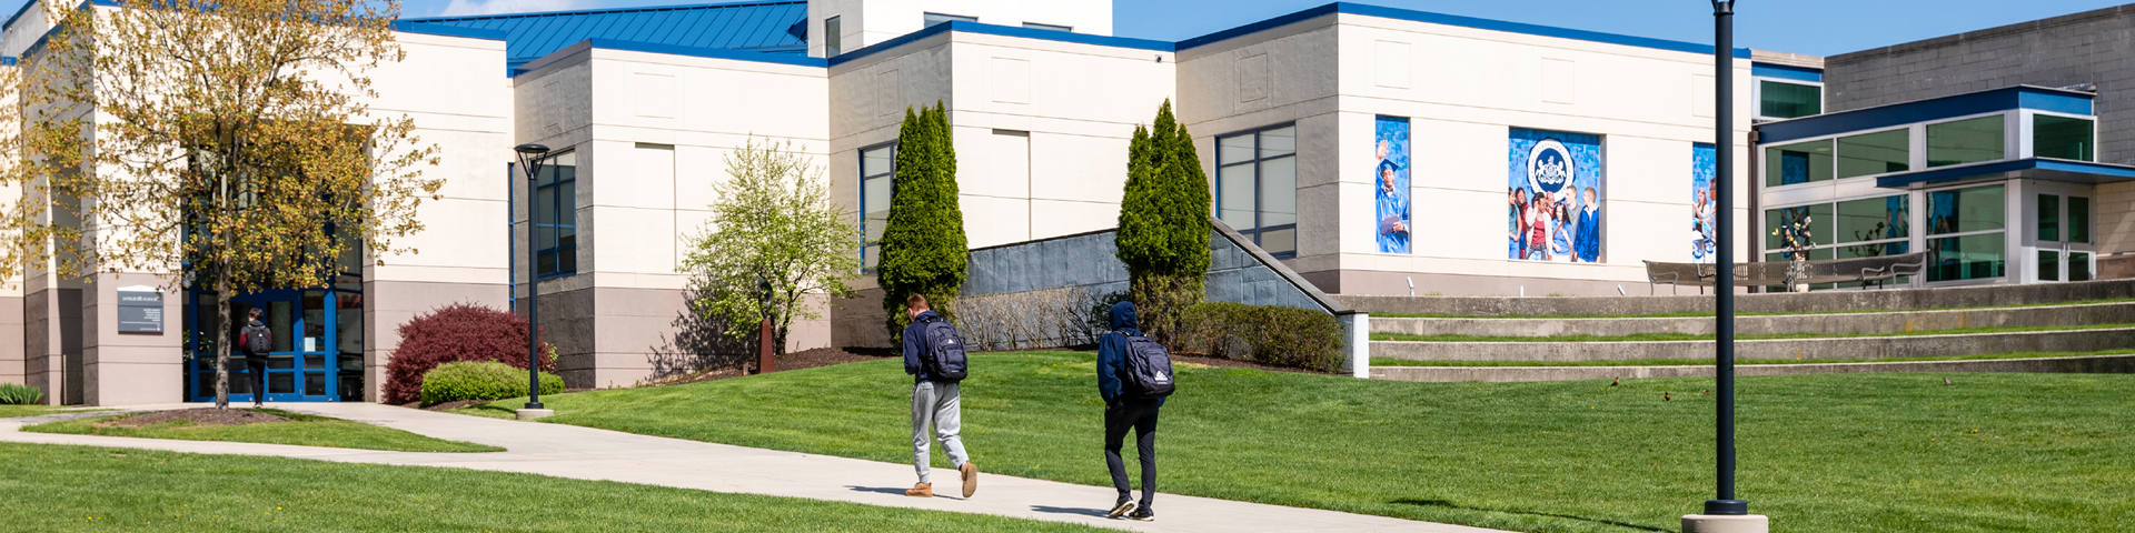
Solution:
<svg viewBox="0 0 2135 533">
<path fill-rule="evenodd" d="M 455 303 L 408 320 L 399 335 L 401 345 L 386 360 L 386 403 L 421 401 L 423 375 L 444 362 L 495 360 L 527 367 L 527 320 L 510 311 Z M 555 371 L 553 343 L 542 343 L 540 369 Z"/>
</svg>

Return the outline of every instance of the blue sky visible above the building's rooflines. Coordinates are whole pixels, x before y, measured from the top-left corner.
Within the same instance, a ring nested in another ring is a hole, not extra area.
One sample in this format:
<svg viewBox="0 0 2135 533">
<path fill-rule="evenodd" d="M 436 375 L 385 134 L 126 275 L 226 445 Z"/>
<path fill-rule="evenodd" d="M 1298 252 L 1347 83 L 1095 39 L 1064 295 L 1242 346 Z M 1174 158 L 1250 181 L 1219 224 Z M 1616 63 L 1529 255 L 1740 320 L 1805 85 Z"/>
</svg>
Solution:
<svg viewBox="0 0 2135 533">
<path fill-rule="evenodd" d="M 21 0 L 0 0 L 21 6 Z M 566 9 L 709 4 L 698 0 L 404 0 L 406 17 Z M 1044 2 L 1044 0 L 995 0 Z M 1245 26 L 1328 0 L 1117 0 L 1114 34 L 1179 41 Z M 1364 4 L 1593 32 L 1712 43 L 1702 0 L 1362 0 Z M 2058 17 L 2126 0 L 1740 0 L 1736 45 L 1836 55 L 1883 45 Z M 13 9 L 9 11 L 13 13 Z"/>
</svg>

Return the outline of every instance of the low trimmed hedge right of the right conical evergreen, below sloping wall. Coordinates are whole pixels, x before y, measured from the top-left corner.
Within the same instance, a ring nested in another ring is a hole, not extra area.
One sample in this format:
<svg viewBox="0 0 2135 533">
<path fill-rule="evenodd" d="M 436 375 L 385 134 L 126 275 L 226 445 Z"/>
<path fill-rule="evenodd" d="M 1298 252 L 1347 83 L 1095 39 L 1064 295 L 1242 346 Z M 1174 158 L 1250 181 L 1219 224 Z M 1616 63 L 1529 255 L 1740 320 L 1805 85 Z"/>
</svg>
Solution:
<svg viewBox="0 0 2135 533">
<path fill-rule="evenodd" d="M 1343 328 L 1330 313 L 1279 305 L 1200 303 L 1187 307 L 1181 352 L 1260 365 L 1339 371 Z"/>
</svg>

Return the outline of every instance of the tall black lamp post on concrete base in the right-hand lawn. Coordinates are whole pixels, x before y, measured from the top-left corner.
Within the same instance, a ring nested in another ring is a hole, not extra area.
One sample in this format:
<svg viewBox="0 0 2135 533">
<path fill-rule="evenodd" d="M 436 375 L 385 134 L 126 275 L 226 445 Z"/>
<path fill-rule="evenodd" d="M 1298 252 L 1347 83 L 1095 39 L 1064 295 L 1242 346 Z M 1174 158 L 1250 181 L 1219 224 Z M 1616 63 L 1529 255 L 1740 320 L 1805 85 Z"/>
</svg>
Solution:
<svg viewBox="0 0 2135 533">
<path fill-rule="evenodd" d="M 1706 514 L 1710 516 L 1744 516 L 1749 514 L 1749 501 L 1736 499 L 1734 492 L 1734 0 L 1712 0 L 1712 21 L 1717 28 L 1717 43 L 1712 43 L 1712 55 L 1719 60 L 1714 64 L 1714 90 L 1719 90 L 1719 111 L 1712 113 L 1719 122 L 1719 136 L 1714 141 L 1714 181 L 1719 181 L 1719 215 L 1714 228 L 1714 245 L 1719 245 L 1719 275 L 1714 275 L 1714 288 L 1719 298 L 1714 301 L 1717 328 L 1714 345 L 1714 375 L 1719 377 L 1719 405 L 1714 405 L 1719 433 L 1719 497 L 1706 501 Z"/>
</svg>

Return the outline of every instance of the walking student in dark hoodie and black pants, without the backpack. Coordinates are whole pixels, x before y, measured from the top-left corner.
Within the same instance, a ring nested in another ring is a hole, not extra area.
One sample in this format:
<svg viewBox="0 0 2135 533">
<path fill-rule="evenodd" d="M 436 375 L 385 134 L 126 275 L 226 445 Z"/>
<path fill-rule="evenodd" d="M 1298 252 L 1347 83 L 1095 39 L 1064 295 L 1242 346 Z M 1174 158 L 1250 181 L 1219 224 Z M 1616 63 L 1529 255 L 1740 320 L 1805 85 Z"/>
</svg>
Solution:
<svg viewBox="0 0 2135 533">
<path fill-rule="evenodd" d="M 1104 397 L 1104 467 L 1112 471 L 1112 488 L 1119 488 L 1119 503 L 1106 516 L 1127 516 L 1134 520 L 1157 520 L 1149 503 L 1157 497 L 1157 409 L 1164 399 L 1121 399 L 1119 373 L 1127 371 L 1127 335 L 1136 330 L 1134 303 L 1114 303 L 1110 311 L 1112 333 L 1097 339 L 1097 394 Z M 1134 503 L 1127 484 L 1127 461 L 1119 448 L 1134 431 L 1136 456 L 1142 461 L 1142 501 Z"/>
</svg>

